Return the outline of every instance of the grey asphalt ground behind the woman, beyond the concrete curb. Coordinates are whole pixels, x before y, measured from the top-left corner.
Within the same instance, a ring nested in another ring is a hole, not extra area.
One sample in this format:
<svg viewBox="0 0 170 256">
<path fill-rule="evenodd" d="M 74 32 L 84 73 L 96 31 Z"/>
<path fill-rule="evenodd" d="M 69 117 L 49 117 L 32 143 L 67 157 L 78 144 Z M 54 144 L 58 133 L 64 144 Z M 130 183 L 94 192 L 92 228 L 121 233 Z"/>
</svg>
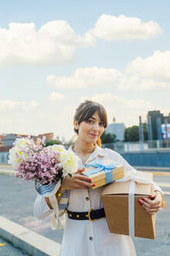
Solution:
<svg viewBox="0 0 170 256">
<path fill-rule="evenodd" d="M 137 256 L 170 255 L 169 174 L 170 173 L 167 172 L 167 175 L 165 176 L 165 172 L 163 172 L 162 175 L 154 175 L 154 181 L 161 186 L 163 191 L 165 191 L 167 208 L 158 212 L 156 215 L 155 240 L 134 238 Z M 36 190 L 33 182 L 26 183 L 23 180 L 17 179 L 15 176 L 0 175 L 0 215 L 61 244 L 63 231 L 54 231 L 50 229 L 50 217 L 47 219 L 38 220 L 33 216 L 33 203 L 35 199 Z M 0 249 L 5 250 L 5 247 L 0 247 Z M 19 253 L 22 252 L 19 251 Z M 0 253 L 0 255 L 3 254 Z M 11 256 L 12 254 L 9 255 Z"/>
</svg>

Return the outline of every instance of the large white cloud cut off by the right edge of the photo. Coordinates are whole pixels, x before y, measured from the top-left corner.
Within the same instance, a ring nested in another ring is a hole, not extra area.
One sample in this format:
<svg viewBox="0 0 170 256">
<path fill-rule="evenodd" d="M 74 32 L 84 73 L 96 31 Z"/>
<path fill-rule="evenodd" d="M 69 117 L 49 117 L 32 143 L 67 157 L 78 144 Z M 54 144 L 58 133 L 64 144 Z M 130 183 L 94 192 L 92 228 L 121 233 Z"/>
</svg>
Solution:
<svg viewBox="0 0 170 256">
<path fill-rule="evenodd" d="M 156 51 L 145 59 L 137 57 L 127 65 L 120 88 L 170 89 L 170 51 Z"/>
</svg>

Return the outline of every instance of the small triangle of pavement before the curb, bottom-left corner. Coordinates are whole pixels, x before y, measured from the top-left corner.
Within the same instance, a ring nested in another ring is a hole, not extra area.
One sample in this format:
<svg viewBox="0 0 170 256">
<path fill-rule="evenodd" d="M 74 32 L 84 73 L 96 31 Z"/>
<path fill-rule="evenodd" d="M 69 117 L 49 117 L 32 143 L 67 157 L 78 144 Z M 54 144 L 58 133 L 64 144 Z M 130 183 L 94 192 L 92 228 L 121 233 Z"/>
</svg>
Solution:
<svg viewBox="0 0 170 256">
<path fill-rule="evenodd" d="M 6 240 L 0 237 L 0 255 L 1 256 L 29 256 L 19 248 L 14 247 L 12 244 L 9 244 Z"/>
</svg>

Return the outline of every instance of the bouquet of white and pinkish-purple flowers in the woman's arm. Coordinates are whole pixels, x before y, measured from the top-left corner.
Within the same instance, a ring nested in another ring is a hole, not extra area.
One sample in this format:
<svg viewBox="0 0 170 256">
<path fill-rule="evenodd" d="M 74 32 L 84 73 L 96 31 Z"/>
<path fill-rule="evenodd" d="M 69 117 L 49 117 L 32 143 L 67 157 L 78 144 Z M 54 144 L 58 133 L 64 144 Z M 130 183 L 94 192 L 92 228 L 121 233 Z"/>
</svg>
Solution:
<svg viewBox="0 0 170 256">
<path fill-rule="evenodd" d="M 77 170 L 78 157 L 63 145 L 44 147 L 45 137 L 36 143 L 30 137 L 17 138 L 9 151 L 9 164 L 16 170 L 16 177 L 35 180 L 42 185 L 55 183 Z"/>
</svg>

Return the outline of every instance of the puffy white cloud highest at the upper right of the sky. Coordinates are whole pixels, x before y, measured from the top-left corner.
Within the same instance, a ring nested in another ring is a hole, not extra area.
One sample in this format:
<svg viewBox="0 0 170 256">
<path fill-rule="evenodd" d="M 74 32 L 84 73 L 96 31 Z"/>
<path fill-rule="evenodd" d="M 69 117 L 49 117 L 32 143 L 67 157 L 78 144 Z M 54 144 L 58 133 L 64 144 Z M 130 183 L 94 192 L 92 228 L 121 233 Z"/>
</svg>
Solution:
<svg viewBox="0 0 170 256">
<path fill-rule="evenodd" d="M 144 40 L 160 34 L 161 27 L 152 20 L 102 14 L 88 33 L 106 41 Z"/>
</svg>

